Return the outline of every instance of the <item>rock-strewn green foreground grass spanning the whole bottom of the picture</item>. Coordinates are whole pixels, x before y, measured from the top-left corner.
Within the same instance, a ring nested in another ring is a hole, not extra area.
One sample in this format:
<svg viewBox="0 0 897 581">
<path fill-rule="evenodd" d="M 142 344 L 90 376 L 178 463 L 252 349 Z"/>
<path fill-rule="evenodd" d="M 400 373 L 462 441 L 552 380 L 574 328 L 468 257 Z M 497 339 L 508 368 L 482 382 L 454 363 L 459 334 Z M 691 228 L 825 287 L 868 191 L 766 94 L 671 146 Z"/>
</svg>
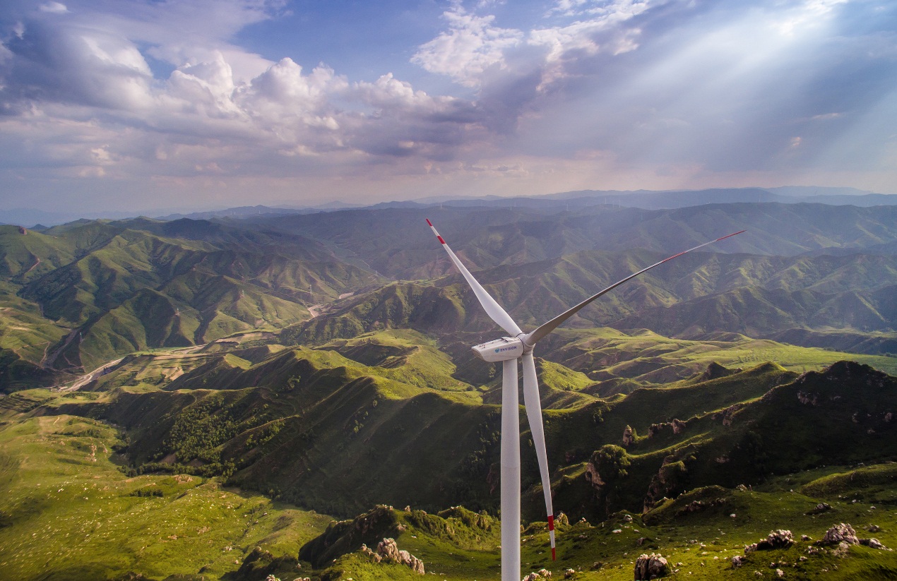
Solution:
<svg viewBox="0 0 897 581">
<path fill-rule="evenodd" d="M 228 572 L 233 575 L 255 546 L 276 556 L 295 555 L 327 525 L 327 517 L 222 489 L 214 481 L 183 475 L 126 479 L 104 451 L 116 441 L 113 431 L 95 421 L 33 418 L 5 425 L 0 438 L 4 444 L 0 480 L 9 490 L 0 499 L 4 518 L 0 564 L 10 577 L 92 580 L 136 571 L 161 579 L 202 569 L 206 579 L 217 579 Z M 755 578 L 755 570 L 765 577 L 773 573 L 770 562 L 782 561 L 788 562 L 779 565 L 786 578 L 889 578 L 897 570 L 893 552 L 855 547 L 846 559 L 824 554 L 798 563 L 798 556 L 806 556 L 806 542 L 789 550 L 756 553 L 744 568 L 730 568 L 729 560 L 742 554 L 744 544 L 775 528 L 818 539 L 836 522 L 852 523 L 860 536 L 867 535 L 860 527 L 874 522 L 884 529 L 875 537 L 888 546 L 897 545 L 897 517 L 885 504 L 893 499 L 893 484 L 888 488 L 893 483 L 891 467 L 856 473 L 839 472 L 843 469 L 838 467 L 828 470 L 831 475 L 817 473 L 822 478 L 799 491 L 786 477 L 764 490 L 698 490 L 649 513 L 645 517 L 649 524 L 639 516 L 627 523 L 623 514 L 617 514 L 604 523 L 562 525 L 560 559 L 555 563 L 548 558 L 544 523 L 536 523 L 523 535 L 524 572 L 546 567 L 560 577 L 564 569 L 574 568 L 581 569 L 574 577 L 578 579 L 630 579 L 636 555 L 659 551 L 680 575 L 695 579 Z M 788 492 L 788 487 L 796 491 Z M 138 490 L 160 490 L 162 496 L 131 496 Z M 679 512 L 694 499 L 720 499 L 721 504 Z M 822 499 L 832 505 L 831 512 L 805 515 Z M 428 571 L 453 581 L 498 579 L 498 521 L 486 517 L 481 525 L 471 525 L 471 514 L 458 510 L 441 516 L 401 510 L 390 514 L 390 523 L 377 533 L 396 538 L 399 548 L 422 558 Z M 395 524 L 406 528 L 399 531 Z M 617 529 L 621 533 L 612 532 Z M 640 538 L 648 542 L 639 546 Z M 692 544 L 692 539 L 704 545 Z M 374 564 L 354 552 L 363 541 L 372 544 L 361 537 L 349 542 L 343 548 L 349 552 L 344 556 L 337 552 L 335 563 L 327 563 L 323 572 L 337 574 L 333 578 L 419 578 L 409 569 Z M 229 546 L 232 551 L 224 551 Z M 598 568 L 593 569 L 596 563 Z M 823 568 L 828 573 L 821 573 Z M 284 573 L 274 572 L 284 578 Z M 309 573 L 313 572 L 305 574 Z"/>
</svg>

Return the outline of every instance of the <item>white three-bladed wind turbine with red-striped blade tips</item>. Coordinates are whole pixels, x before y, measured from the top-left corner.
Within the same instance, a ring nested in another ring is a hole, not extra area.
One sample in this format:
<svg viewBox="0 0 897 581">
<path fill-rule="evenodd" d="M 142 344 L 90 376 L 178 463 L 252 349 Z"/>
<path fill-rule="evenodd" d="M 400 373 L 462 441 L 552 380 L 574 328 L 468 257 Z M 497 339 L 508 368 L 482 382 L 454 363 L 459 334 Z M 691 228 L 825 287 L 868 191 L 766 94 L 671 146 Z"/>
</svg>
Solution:
<svg viewBox="0 0 897 581">
<path fill-rule="evenodd" d="M 527 421 L 529 430 L 533 436 L 533 445 L 536 447 L 536 459 L 539 464 L 539 473 L 542 476 L 542 491 L 545 497 L 545 512 L 548 515 L 548 534 L 551 538 L 552 560 L 555 560 L 554 551 L 554 509 L 552 507 L 552 483 L 548 472 L 548 458 L 545 451 L 545 434 L 542 425 L 542 403 L 539 401 L 539 385 L 536 379 L 536 361 L 533 360 L 533 347 L 536 346 L 545 335 L 551 333 L 564 321 L 576 315 L 579 309 L 585 307 L 593 300 L 608 291 L 627 282 L 641 273 L 646 273 L 655 266 L 664 264 L 678 256 L 683 256 L 692 250 L 708 246 L 719 240 L 731 238 L 741 234 L 745 230 L 729 234 L 722 238 L 704 242 L 696 247 L 684 250 L 679 254 L 664 258 L 658 263 L 642 268 L 637 273 L 632 273 L 621 281 L 614 282 L 603 291 L 583 300 L 579 305 L 569 308 L 552 320 L 544 323 L 531 333 L 520 330 L 501 305 L 492 299 L 492 296 L 483 289 L 483 285 L 476 281 L 474 275 L 467 270 L 464 264 L 448 247 L 446 241 L 436 231 L 432 222 L 428 219 L 433 234 L 439 238 L 440 244 L 448 252 L 448 257 L 461 271 L 467 284 L 473 289 L 476 298 L 483 305 L 486 315 L 509 336 L 501 337 L 495 341 L 475 345 L 477 357 L 484 361 L 497 363 L 501 361 L 501 581 L 517 581 L 520 576 L 520 421 L 518 403 L 518 360 L 523 362 L 523 403 L 527 409 Z"/>
</svg>

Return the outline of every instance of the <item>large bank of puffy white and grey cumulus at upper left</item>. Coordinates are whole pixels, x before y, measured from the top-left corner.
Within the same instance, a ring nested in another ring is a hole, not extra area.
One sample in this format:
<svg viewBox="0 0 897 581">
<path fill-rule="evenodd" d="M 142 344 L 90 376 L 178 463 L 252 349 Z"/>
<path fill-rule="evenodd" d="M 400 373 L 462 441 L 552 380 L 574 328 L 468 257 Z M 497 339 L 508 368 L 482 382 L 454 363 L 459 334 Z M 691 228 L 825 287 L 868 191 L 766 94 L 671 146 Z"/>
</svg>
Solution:
<svg viewBox="0 0 897 581">
<path fill-rule="evenodd" d="M 239 13 L 262 5 L 245 4 Z M 53 143 L 32 151 L 34 159 L 17 159 L 20 173 L 39 165 L 59 176 L 107 179 L 291 175 L 334 164 L 351 170 L 378 158 L 449 160 L 462 142 L 482 137 L 482 111 L 469 100 L 431 96 L 393 74 L 350 82 L 327 65 L 306 71 L 289 57 L 238 74 L 232 63 L 252 56 L 235 57 L 226 42 L 201 49 L 179 40 L 140 42 L 165 40 L 167 32 L 153 30 L 158 17 L 144 15 L 148 30 L 131 34 L 133 24 L 118 13 L 92 25 L 53 15 L 59 17 L 22 21 L 0 62 L 0 104 L 11 129 L 0 147 L 56 132 Z M 211 20 L 231 30 L 231 19 Z M 147 54 L 164 57 L 174 70 L 154 77 Z M 88 119 L 60 130 L 68 120 Z M 284 158 L 292 165 L 278 161 Z"/>
</svg>

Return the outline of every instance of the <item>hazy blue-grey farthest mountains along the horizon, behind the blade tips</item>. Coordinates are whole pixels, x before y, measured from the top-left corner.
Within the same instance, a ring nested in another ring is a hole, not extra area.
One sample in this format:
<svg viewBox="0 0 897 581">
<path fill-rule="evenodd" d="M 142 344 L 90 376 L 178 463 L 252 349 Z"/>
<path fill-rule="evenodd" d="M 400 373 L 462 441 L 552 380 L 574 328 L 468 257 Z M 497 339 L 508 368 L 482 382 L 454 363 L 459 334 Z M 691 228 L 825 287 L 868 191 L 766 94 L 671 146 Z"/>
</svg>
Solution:
<svg viewBox="0 0 897 581">
<path fill-rule="evenodd" d="M 327 240 L 396 279 L 451 272 L 432 242 L 431 218 L 475 268 L 525 264 L 579 250 L 645 248 L 667 255 L 737 230 L 715 252 L 793 256 L 823 248 L 878 247 L 897 241 L 897 206 L 709 204 L 674 210 L 607 206 L 578 212 L 452 208 L 346 210 L 251 221 L 259 228 Z"/>
</svg>

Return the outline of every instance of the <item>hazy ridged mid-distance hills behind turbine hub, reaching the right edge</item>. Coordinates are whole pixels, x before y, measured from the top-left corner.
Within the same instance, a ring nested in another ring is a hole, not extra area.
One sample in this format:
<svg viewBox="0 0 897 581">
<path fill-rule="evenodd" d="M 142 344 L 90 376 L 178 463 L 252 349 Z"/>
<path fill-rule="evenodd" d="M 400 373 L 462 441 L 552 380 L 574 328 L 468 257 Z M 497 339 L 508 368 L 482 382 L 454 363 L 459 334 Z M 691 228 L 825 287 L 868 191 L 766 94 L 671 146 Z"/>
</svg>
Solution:
<svg viewBox="0 0 897 581">
<path fill-rule="evenodd" d="M 477 276 L 520 325 L 532 328 L 662 257 L 647 251 L 582 251 L 521 266 L 498 266 Z M 796 344 L 893 352 L 887 341 L 863 343 L 859 336 L 897 331 L 895 282 L 897 256 L 694 253 L 609 293 L 566 326 L 648 328 L 697 339 L 719 331 L 751 337 L 782 334 Z M 322 317 L 287 329 L 284 337 L 320 343 L 406 327 L 429 334 L 482 336 L 495 328 L 466 282 L 452 274 L 433 282 L 395 283 L 344 299 Z M 820 343 L 823 333 L 828 334 L 828 343 Z M 839 333 L 854 338 L 835 339 Z"/>
</svg>

